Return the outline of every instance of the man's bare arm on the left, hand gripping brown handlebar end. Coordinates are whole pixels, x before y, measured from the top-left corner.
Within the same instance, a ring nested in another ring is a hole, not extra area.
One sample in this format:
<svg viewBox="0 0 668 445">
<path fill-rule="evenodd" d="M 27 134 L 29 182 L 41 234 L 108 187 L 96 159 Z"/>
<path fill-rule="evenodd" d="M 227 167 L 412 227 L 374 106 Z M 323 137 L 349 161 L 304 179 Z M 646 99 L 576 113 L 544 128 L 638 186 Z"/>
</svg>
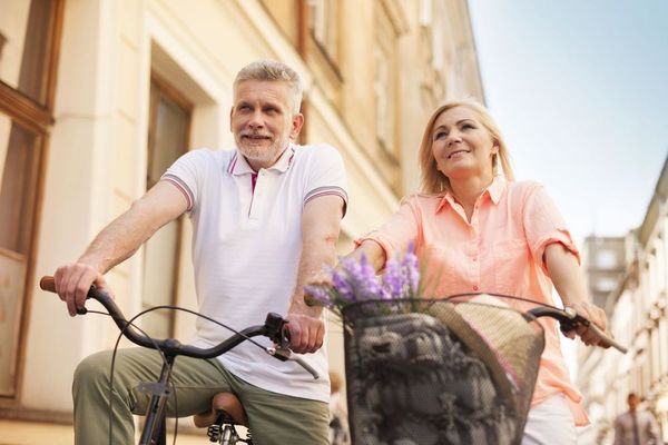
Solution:
<svg viewBox="0 0 668 445">
<path fill-rule="evenodd" d="M 75 264 L 59 267 L 56 291 L 70 316 L 84 307 L 91 285 L 109 291 L 104 278 L 109 269 L 129 258 L 160 227 L 187 209 L 184 195 L 168 181 L 159 181 L 121 216 L 98 234 Z"/>
</svg>

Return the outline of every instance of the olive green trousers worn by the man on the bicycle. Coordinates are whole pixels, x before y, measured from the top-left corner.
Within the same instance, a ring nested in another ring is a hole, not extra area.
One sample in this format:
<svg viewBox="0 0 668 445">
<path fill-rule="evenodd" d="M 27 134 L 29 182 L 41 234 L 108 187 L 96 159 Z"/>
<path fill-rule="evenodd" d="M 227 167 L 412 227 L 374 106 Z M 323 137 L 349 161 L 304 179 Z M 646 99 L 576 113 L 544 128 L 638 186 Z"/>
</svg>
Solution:
<svg viewBox="0 0 668 445">
<path fill-rule="evenodd" d="M 108 444 L 109 372 L 111 352 L 94 354 L 75 372 L 75 443 Z M 132 414 L 144 415 L 150 397 L 137 390 L 140 382 L 156 382 L 163 360 L 146 348 L 120 349 L 116 356 L 112 397 L 112 443 L 135 441 Z M 330 409 L 326 403 L 291 397 L 250 385 L 227 372 L 217 359 L 177 357 L 167 415 L 186 417 L 210 409 L 212 397 L 220 392 L 237 395 L 250 424 L 256 445 L 327 444 Z M 203 444 L 207 442 L 203 431 Z M 169 441 L 168 441 L 169 442 Z"/>
</svg>

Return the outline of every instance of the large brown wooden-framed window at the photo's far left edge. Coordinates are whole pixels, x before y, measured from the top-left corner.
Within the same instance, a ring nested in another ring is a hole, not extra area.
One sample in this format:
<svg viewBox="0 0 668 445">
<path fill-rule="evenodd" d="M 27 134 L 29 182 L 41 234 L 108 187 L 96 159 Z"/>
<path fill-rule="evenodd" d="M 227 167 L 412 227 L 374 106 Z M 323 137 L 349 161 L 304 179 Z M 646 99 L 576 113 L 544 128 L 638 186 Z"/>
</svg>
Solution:
<svg viewBox="0 0 668 445">
<path fill-rule="evenodd" d="M 52 123 L 62 1 L 3 0 L 0 13 L 0 396 L 14 397 L 41 175 Z"/>
</svg>

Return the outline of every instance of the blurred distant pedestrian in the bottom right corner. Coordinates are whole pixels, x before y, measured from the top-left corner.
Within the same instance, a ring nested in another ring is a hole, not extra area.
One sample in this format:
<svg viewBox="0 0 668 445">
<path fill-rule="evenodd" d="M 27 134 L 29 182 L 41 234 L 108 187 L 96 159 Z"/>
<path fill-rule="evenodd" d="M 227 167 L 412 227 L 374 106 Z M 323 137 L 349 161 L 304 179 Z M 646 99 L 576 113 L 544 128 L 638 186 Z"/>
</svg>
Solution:
<svg viewBox="0 0 668 445">
<path fill-rule="evenodd" d="M 629 393 L 627 404 L 629 411 L 617 416 L 615 421 L 615 445 L 659 445 L 659 425 L 648 411 L 638 409 L 638 396 Z"/>
</svg>

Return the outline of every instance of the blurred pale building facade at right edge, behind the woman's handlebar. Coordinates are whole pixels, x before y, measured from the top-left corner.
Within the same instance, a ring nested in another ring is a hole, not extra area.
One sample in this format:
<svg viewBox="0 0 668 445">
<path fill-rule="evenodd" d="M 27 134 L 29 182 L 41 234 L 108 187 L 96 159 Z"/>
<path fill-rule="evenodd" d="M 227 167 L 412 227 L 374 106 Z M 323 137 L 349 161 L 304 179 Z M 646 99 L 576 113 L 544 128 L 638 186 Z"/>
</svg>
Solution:
<svg viewBox="0 0 668 445">
<path fill-rule="evenodd" d="M 588 243 L 601 245 L 595 238 Z M 589 283 L 601 284 L 610 330 L 629 352 L 580 347 L 578 383 L 593 424 L 590 436 L 592 443 L 612 443 L 615 418 L 628 409 L 627 395 L 633 392 L 668 441 L 668 159 L 641 226 L 603 245 L 607 270 L 590 275 Z"/>
</svg>

